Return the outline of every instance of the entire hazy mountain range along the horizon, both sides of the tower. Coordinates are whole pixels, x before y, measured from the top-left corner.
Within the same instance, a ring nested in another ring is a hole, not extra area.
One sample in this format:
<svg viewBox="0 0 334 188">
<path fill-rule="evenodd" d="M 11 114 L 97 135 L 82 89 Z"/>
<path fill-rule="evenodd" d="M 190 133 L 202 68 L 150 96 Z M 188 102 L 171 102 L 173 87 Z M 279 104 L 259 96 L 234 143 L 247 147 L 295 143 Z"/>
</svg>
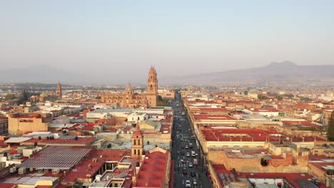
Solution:
<svg viewBox="0 0 334 188">
<path fill-rule="evenodd" d="M 193 75 L 168 75 L 159 78 L 161 85 L 206 85 L 243 83 L 308 83 L 327 82 L 334 85 L 334 65 L 298 66 L 290 61 L 270 63 L 268 66 L 246 68 L 233 71 L 219 71 Z M 111 82 L 113 80 L 113 83 Z M 30 68 L 14 68 L 0 71 L 0 83 L 69 83 L 76 85 L 93 84 L 126 84 L 127 78 L 112 78 L 112 75 L 87 75 L 71 73 L 51 66 L 33 66 Z M 145 85 L 146 78 L 136 79 L 133 85 Z M 143 81 L 141 81 L 143 80 Z"/>
</svg>

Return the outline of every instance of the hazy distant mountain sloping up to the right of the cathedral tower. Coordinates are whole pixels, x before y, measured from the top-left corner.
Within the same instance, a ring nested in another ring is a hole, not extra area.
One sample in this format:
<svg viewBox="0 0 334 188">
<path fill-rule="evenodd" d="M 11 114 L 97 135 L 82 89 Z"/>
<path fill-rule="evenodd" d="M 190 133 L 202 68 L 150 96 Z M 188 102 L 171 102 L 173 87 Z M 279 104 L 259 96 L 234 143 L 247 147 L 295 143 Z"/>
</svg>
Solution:
<svg viewBox="0 0 334 188">
<path fill-rule="evenodd" d="M 168 83 L 168 80 L 164 80 Z M 270 63 L 259 68 L 246 68 L 234 71 L 221 71 L 186 75 L 169 80 L 176 84 L 224 84 L 243 83 L 309 83 L 334 81 L 334 66 L 298 66 L 290 61 Z"/>
</svg>

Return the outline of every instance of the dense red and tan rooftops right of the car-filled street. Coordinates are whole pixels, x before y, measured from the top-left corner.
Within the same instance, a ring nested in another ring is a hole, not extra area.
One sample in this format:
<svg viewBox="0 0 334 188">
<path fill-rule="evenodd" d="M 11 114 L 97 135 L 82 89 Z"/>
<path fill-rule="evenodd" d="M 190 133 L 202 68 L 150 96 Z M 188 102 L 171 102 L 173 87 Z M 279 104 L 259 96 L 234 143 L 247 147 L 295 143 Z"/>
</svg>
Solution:
<svg viewBox="0 0 334 188">
<path fill-rule="evenodd" d="M 334 95 L 181 91 L 213 187 L 334 187 Z"/>
</svg>

